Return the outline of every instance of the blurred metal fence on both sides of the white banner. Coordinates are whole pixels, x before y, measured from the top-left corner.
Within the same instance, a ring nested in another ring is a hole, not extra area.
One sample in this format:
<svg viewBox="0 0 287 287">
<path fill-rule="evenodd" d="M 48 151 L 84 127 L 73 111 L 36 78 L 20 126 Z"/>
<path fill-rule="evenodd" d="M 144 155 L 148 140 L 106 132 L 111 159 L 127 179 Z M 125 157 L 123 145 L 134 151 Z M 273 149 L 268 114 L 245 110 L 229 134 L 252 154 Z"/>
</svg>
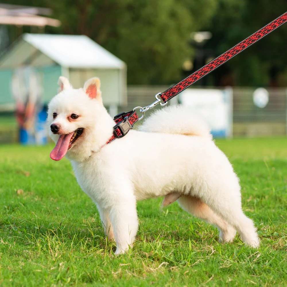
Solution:
<svg viewBox="0 0 287 287">
<path fill-rule="evenodd" d="M 154 95 L 164 92 L 169 86 L 129 86 L 128 106 L 119 111 L 128 111 L 136 106 L 154 102 Z M 286 135 L 287 88 L 267 88 L 268 103 L 264 108 L 253 102 L 256 88 L 233 88 L 233 136 L 260 137 Z M 176 102 L 177 97 L 171 101 Z"/>
</svg>

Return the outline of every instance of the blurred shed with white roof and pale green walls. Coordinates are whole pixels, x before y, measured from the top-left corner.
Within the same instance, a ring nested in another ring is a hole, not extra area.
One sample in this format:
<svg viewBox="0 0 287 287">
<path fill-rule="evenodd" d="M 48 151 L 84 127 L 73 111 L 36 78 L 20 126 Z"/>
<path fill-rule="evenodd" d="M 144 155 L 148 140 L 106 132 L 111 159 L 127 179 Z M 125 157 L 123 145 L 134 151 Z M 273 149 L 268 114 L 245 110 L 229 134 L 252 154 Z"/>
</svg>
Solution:
<svg viewBox="0 0 287 287">
<path fill-rule="evenodd" d="M 41 79 L 44 103 L 57 93 L 57 81 L 63 75 L 74 88 L 83 87 L 90 77 L 99 77 L 104 105 L 126 104 L 126 64 L 87 36 L 23 34 L 0 58 L 0 105 L 14 102 L 12 77 L 25 68 Z"/>
</svg>

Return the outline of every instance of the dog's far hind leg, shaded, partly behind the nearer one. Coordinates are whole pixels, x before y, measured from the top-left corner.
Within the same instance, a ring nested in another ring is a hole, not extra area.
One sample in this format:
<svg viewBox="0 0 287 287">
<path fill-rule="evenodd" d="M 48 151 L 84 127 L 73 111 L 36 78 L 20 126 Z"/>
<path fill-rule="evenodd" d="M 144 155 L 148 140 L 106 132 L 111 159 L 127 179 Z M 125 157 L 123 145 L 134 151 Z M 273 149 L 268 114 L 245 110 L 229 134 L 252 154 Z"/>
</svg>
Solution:
<svg viewBox="0 0 287 287">
<path fill-rule="evenodd" d="M 204 221 L 215 225 L 219 230 L 220 242 L 232 242 L 236 230 L 225 220 L 218 216 L 206 203 L 193 196 L 182 196 L 177 202 L 183 210 L 203 219 Z"/>
</svg>

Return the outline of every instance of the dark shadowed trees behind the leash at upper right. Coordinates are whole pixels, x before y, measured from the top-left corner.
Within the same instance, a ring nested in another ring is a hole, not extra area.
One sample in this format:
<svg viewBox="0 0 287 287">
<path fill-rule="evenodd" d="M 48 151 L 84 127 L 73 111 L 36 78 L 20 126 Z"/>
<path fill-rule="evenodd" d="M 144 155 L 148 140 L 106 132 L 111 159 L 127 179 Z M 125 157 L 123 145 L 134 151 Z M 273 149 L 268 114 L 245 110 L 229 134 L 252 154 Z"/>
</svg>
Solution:
<svg viewBox="0 0 287 287">
<path fill-rule="evenodd" d="M 205 26 L 213 34 L 205 47 L 214 49 L 218 56 L 284 12 L 285 0 L 218 0 L 212 25 Z M 212 77 L 231 71 L 236 86 L 286 86 L 286 38 L 285 24 L 224 64 Z"/>
</svg>

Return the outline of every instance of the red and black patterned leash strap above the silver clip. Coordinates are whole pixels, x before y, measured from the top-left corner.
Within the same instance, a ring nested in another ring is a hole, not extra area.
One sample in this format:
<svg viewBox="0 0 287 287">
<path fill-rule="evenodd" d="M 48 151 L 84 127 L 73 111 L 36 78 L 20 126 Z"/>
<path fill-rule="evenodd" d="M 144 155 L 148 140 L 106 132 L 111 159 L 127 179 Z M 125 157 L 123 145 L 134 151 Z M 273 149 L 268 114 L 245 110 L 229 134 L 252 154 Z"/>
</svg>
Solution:
<svg viewBox="0 0 287 287">
<path fill-rule="evenodd" d="M 276 18 L 274 21 L 270 22 L 266 26 L 264 26 L 262 29 L 258 30 L 245 40 L 241 41 L 222 55 L 218 56 L 217 58 L 213 59 L 209 63 L 207 63 L 205 66 L 202 68 L 198 69 L 191 75 L 189 75 L 187 78 L 183 79 L 181 82 L 178 84 L 172 86 L 171 88 L 167 89 L 164 91 L 161 95 L 160 98 L 166 103 L 168 100 L 188 88 L 190 85 L 198 81 L 199 79 L 203 78 L 258 40 L 262 39 L 264 36 L 267 34 L 271 33 L 278 27 L 280 27 L 282 24 L 284 24 L 287 21 L 287 12 Z"/>
</svg>

